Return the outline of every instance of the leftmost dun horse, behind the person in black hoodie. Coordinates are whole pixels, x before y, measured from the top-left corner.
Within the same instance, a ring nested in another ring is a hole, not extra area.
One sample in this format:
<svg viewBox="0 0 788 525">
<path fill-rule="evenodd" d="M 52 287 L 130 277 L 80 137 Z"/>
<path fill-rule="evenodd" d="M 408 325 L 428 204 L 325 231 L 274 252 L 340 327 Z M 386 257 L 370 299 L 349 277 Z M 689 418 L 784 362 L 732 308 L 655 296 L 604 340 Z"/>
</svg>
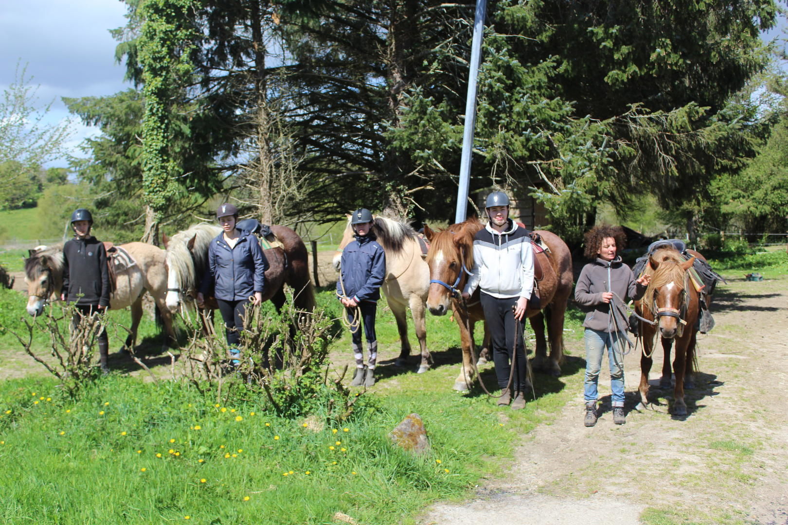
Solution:
<svg viewBox="0 0 788 525">
<path fill-rule="evenodd" d="M 154 298 L 159 312 L 162 314 L 165 330 L 169 341 L 175 342 L 173 318 L 165 306 L 167 290 L 167 270 L 164 264 L 164 250 L 144 242 L 129 242 L 118 246 L 125 250 L 134 260 L 128 268 L 119 269 L 115 273 L 114 290 L 110 294 L 110 309 L 132 308 L 131 331 L 126 338 L 125 349 L 136 344 L 137 327 L 143 316 L 143 293 L 147 290 Z M 63 286 L 63 246 L 40 246 L 31 250 L 30 257 L 24 261 L 24 281 L 28 284 L 28 313 L 40 316 L 48 301 L 60 298 Z M 115 267 L 117 268 L 117 266 Z"/>
</svg>

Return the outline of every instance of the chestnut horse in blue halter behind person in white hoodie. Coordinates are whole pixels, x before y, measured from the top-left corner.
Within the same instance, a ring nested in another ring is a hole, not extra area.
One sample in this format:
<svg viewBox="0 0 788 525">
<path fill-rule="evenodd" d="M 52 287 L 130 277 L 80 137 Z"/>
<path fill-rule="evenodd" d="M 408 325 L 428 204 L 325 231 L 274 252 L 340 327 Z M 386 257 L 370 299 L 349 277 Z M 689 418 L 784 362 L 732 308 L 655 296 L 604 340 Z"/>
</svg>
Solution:
<svg viewBox="0 0 788 525">
<path fill-rule="evenodd" d="M 459 297 L 467 282 L 467 272 L 470 272 L 474 265 L 474 235 L 483 227 L 484 224 L 475 218 L 453 224 L 441 231 L 432 231 L 429 227 L 424 227 L 424 233 L 431 242 L 427 253 L 429 279 L 450 283 L 450 288 L 436 282 L 429 285 L 427 309 L 434 315 L 442 316 L 451 307 L 459 325 L 463 364 L 459 376 L 455 379 L 455 390 L 470 388 L 470 381 L 474 377 L 471 352 L 473 349 L 471 345 L 474 344 L 473 326 L 476 321 L 484 320 L 484 312 L 479 302 L 479 290 L 476 290 L 467 301 L 467 309 L 463 309 L 462 299 Z M 541 235 L 548 250 L 541 253 L 536 253 L 534 250 L 534 260 L 538 261 L 542 270 L 541 279 L 537 279 L 541 300 L 539 309 L 532 309 L 529 304 L 526 311 L 526 317 L 530 319 L 537 339 L 533 368 L 546 370 L 557 376 L 561 374 L 563 361 L 563 319 L 567 311 L 567 300 L 572 291 L 572 258 L 566 243 L 558 235 L 542 230 L 534 233 Z M 545 339 L 545 319 L 547 339 Z"/>
</svg>

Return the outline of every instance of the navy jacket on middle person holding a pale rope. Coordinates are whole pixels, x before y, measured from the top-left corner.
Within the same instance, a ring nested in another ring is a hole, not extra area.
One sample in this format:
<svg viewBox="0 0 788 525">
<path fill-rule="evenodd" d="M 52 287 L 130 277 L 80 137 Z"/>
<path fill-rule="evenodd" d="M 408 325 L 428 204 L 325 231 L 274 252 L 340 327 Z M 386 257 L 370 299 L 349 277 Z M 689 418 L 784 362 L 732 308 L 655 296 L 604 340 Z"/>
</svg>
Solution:
<svg viewBox="0 0 788 525">
<path fill-rule="evenodd" d="M 381 285 L 386 276 L 386 255 L 383 247 L 369 235 L 355 236 L 355 241 L 342 251 L 340 279 L 336 281 L 336 294 L 358 301 L 377 301 L 381 298 Z"/>
</svg>

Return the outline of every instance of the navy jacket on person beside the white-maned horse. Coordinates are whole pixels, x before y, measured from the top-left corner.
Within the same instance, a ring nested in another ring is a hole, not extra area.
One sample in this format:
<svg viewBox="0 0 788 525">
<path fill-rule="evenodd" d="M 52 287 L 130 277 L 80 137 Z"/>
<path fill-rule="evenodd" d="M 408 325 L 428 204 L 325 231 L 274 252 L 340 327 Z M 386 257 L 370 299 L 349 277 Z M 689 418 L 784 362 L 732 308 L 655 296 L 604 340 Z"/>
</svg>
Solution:
<svg viewBox="0 0 788 525">
<path fill-rule="evenodd" d="M 241 232 L 234 248 L 224 236 L 220 233 L 208 245 L 208 269 L 200 292 L 208 296 L 213 287 L 214 297 L 222 301 L 241 301 L 255 292 L 264 293 L 268 260 L 255 235 Z"/>
</svg>

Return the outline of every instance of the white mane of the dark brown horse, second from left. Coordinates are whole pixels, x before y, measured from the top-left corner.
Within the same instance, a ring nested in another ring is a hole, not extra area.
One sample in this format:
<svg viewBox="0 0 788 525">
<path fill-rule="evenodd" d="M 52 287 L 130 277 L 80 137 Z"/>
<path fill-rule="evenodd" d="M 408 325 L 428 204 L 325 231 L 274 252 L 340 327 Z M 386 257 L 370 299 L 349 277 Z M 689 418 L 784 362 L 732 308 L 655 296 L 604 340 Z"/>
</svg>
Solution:
<svg viewBox="0 0 788 525">
<path fill-rule="evenodd" d="M 216 224 L 195 224 L 187 230 L 179 231 L 167 243 L 167 264 L 175 272 L 182 290 L 193 290 L 208 266 L 208 245 L 219 235 L 221 227 Z M 186 246 L 195 238 L 191 253 Z"/>
</svg>

